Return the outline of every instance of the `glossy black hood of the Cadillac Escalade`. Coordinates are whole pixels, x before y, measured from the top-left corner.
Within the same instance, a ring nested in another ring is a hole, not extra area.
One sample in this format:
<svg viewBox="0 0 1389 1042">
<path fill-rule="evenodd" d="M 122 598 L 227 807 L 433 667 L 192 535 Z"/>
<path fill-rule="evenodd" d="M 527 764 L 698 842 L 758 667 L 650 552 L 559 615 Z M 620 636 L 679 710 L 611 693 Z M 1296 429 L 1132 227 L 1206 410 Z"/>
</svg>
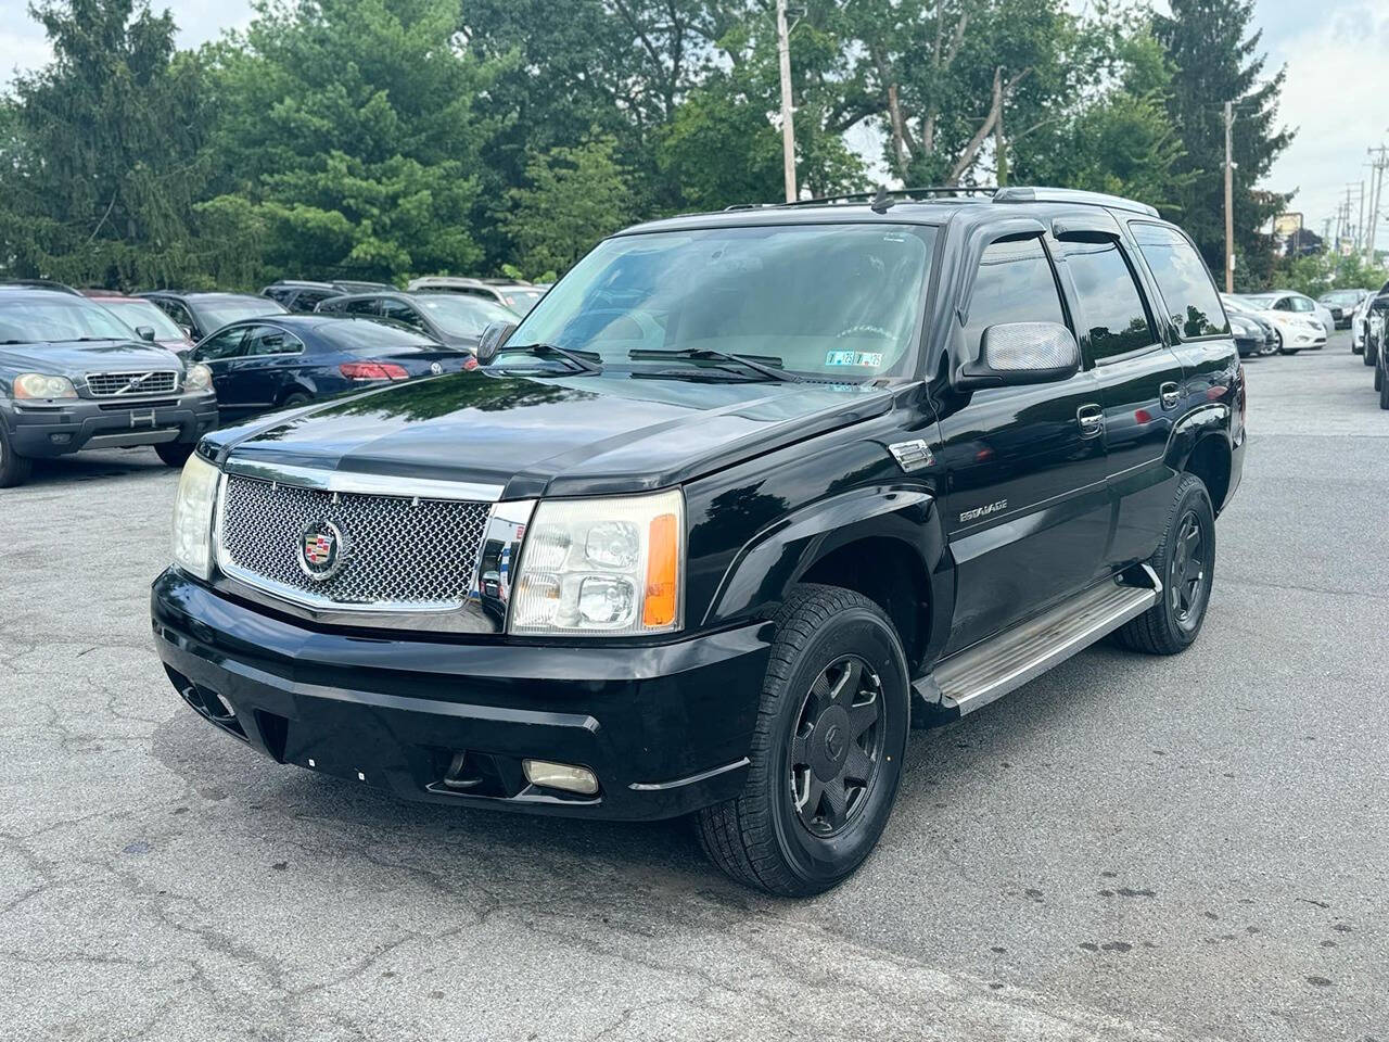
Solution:
<svg viewBox="0 0 1389 1042">
<path fill-rule="evenodd" d="M 210 435 L 219 456 L 506 485 L 508 499 L 665 488 L 879 415 L 861 385 L 526 378 L 415 381 Z"/>
</svg>

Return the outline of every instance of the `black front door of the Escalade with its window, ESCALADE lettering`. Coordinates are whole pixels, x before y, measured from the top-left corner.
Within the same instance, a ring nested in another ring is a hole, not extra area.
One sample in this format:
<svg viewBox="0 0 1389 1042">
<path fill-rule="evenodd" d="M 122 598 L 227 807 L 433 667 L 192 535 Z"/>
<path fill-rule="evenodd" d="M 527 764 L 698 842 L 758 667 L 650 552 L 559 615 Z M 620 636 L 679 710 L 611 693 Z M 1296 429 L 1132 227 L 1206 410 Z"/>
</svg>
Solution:
<svg viewBox="0 0 1389 1042">
<path fill-rule="evenodd" d="M 974 278 L 964 350 L 990 325 L 1065 322 L 1039 239 L 989 246 Z M 950 472 L 946 528 L 957 567 L 946 652 L 976 643 L 1093 581 L 1108 543 L 1100 385 L 1068 381 L 975 390 L 939 417 Z"/>
</svg>

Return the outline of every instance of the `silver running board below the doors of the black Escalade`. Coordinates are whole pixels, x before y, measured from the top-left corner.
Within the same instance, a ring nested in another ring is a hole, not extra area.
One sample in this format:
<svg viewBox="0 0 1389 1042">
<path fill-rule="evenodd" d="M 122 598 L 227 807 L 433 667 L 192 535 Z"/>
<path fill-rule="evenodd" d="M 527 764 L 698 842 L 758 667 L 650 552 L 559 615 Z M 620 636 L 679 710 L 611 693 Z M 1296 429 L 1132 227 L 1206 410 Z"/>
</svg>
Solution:
<svg viewBox="0 0 1389 1042">
<path fill-rule="evenodd" d="M 931 709 L 949 717 L 988 706 L 1089 647 L 1157 603 L 1163 584 L 1147 565 L 1131 572 L 1143 586 L 1106 582 L 1036 618 L 958 652 L 915 682 Z"/>
</svg>

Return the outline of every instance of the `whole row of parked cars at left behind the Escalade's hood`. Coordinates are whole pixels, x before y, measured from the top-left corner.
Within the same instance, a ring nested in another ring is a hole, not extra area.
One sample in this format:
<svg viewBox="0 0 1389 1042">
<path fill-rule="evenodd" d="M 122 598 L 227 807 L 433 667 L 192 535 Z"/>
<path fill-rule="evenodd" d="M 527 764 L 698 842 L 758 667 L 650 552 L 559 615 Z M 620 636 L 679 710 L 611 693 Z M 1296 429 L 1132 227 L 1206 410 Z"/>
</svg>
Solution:
<svg viewBox="0 0 1389 1042">
<path fill-rule="evenodd" d="M 283 281 L 260 295 L 125 296 L 0 283 L 0 488 L 35 458 L 153 446 L 181 467 L 215 427 L 475 365 L 493 322 L 546 286 L 510 279 Z"/>
</svg>

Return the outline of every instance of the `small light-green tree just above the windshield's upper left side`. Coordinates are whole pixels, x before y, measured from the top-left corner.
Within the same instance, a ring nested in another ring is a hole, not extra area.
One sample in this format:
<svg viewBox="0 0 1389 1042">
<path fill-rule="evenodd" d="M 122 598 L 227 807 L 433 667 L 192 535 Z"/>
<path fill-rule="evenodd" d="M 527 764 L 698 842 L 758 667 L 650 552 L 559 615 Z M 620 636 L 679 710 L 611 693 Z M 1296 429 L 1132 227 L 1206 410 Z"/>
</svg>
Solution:
<svg viewBox="0 0 1389 1042">
<path fill-rule="evenodd" d="M 507 232 L 517 267 L 563 274 L 632 218 L 631 193 L 611 138 L 533 153 L 524 188 L 510 190 Z"/>
</svg>

